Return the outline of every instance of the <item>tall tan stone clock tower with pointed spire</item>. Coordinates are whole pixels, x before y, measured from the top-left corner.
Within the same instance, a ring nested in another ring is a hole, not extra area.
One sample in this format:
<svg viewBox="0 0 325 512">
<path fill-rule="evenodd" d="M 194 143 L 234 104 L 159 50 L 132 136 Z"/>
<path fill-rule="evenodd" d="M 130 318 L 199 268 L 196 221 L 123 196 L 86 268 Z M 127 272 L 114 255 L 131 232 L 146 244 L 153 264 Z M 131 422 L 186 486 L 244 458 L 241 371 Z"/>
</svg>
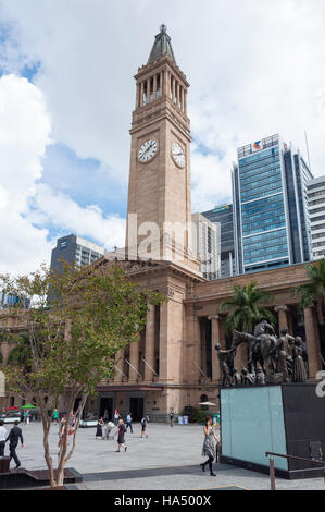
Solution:
<svg viewBox="0 0 325 512">
<path fill-rule="evenodd" d="M 128 257 L 176 261 L 199 273 L 199 261 L 191 251 L 189 83 L 176 64 L 165 25 L 135 80 Z"/>
</svg>

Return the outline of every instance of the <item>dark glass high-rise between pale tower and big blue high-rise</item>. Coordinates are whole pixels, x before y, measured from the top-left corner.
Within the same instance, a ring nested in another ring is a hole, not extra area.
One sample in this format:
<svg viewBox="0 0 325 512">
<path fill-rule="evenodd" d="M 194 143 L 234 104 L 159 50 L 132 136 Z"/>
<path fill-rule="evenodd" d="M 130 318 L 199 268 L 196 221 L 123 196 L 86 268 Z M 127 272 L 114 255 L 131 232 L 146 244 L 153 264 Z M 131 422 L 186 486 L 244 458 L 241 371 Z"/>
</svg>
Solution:
<svg viewBox="0 0 325 512">
<path fill-rule="evenodd" d="M 220 224 L 220 269 L 218 278 L 228 278 L 235 275 L 235 246 L 233 205 L 216 206 L 213 210 L 202 214 L 215 224 Z"/>
</svg>

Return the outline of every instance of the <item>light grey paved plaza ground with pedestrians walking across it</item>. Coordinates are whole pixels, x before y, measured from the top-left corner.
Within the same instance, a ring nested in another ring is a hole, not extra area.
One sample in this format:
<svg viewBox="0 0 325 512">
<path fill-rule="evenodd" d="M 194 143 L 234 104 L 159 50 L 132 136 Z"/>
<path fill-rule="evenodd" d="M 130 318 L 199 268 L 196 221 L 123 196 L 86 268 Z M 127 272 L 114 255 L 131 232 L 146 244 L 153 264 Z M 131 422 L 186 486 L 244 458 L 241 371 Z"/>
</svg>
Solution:
<svg viewBox="0 0 325 512">
<path fill-rule="evenodd" d="M 10 425 L 7 425 L 10 428 Z M 46 468 L 42 452 L 42 428 L 40 423 L 23 426 L 25 448 L 17 453 L 22 466 L 28 470 Z M 113 432 L 115 429 L 113 430 Z M 95 439 L 95 428 L 80 428 L 77 449 L 67 466 L 77 470 L 84 477 L 77 489 L 112 490 L 192 490 L 212 488 L 237 488 L 268 490 L 267 475 L 241 470 L 226 464 L 215 466 L 216 477 L 209 471 L 203 473 L 199 464 L 203 442 L 202 427 L 198 425 L 149 424 L 148 438 L 140 438 L 140 426 L 135 424 L 134 434 L 126 435 L 127 451 L 116 453 L 116 438 Z M 58 426 L 53 425 L 51 454 L 58 452 Z M 8 449 L 7 449 L 8 453 Z M 324 490 L 323 478 L 307 480 L 276 479 L 277 489 Z"/>
</svg>

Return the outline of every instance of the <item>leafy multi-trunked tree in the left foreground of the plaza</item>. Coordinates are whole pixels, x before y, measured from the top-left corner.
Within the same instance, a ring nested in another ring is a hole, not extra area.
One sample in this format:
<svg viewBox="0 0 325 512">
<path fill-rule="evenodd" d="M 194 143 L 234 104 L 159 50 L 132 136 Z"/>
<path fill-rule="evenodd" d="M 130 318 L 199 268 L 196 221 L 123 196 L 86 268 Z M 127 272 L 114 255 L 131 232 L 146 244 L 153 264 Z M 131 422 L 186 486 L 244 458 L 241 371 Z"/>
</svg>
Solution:
<svg viewBox="0 0 325 512">
<path fill-rule="evenodd" d="M 60 272 L 41 266 L 32 275 L 5 276 L 2 281 L 3 289 L 20 298 L 11 313 L 26 328 L 16 337 L 14 366 L 3 368 L 7 387 L 24 398 L 35 398 L 50 485 L 61 486 L 87 398 L 96 393 L 99 382 L 113 376 L 115 354 L 139 339 L 148 302 L 159 304 L 164 298 L 140 290 L 116 265 L 74 268 L 62 261 Z M 72 425 L 70 413 L 77 398 Z M 67 420 L 54 473 L 49 434 L 52 411 L 62 400 L 66 401 Z"/>
</svg>

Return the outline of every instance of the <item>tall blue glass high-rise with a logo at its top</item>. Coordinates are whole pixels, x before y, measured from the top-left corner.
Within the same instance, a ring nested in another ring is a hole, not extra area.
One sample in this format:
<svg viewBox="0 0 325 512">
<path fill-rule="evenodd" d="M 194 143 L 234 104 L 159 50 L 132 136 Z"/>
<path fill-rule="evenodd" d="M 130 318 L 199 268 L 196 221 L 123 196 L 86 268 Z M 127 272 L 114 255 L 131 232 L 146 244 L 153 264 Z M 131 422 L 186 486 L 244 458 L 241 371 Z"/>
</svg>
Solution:
<svg viewBox="0 0 325 512">
<path fill-rule="evenodd" d="M 238 149 L 233 170 L 238 273 L 311 259 L 307 182 L 299 150 L 273 135 Z"/>
</svg>

